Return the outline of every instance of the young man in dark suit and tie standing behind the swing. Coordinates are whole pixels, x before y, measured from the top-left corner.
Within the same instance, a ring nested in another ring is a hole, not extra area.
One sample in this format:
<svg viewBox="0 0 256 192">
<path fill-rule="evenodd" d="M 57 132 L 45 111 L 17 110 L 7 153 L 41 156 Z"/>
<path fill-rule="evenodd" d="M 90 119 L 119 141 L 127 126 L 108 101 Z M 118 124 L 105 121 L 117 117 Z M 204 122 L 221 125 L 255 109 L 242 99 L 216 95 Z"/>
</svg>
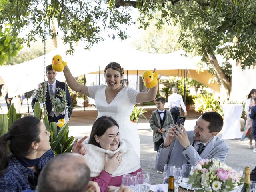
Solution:
<svg viewBox="0 0 256 192">
<path fill-rule="evenodd" d="M 51 103 L 51 99 L 52 97 L 57 97 L 62 101 L 62 97 L 58 96 L 57 94 L 61 91 L 61 90 L 65 90 L 65 83 L 64 82 L 59 82 L 55 79 L 56 77 L 56 71 L 54 71 L 52 69 L 52 65 L 48 65 L 46 66 L 46 76 L 48 78 L 48 82 L 46 84 L 47 87 L 47 91 L 46 91 L 46 110 L 48 112 L 48 120 L 49 122 L 58 122 L 59 119 L 64 119 L 65 115 L 64 114 L 60 114 L 58 115 L 56 112 L 52 111 L 52 103 Z M 72 114 L 72 110 L 73 110 L 73 103 L 68 91 L 68 87 L 67 89 L 67 95 L 66 95 L 66 99 L 67 99 L 67 106 L 72 106 L 72 108 L 68 109 L 69 113 L 68 117 L 70 118 L 71 114 Z M 34 105 L 35 103 L 38 102 L 38 100 L 36 100 L 36 98 L 33 98 L 32 102 L 31 102 L 31 106 L 34 109 Z"/>
</svg>

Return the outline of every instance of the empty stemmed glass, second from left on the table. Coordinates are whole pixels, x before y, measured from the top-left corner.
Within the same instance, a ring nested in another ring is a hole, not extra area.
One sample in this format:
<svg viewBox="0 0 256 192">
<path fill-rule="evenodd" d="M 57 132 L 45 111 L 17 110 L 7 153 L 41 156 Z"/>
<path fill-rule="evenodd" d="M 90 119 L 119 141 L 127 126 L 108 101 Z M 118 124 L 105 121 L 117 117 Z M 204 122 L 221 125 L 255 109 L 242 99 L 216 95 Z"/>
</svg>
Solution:
<svg viewBox="0 0 256 192">
<path fill-rule="evenodd" d="M 150 189 L 150 175 L 146 171 L 140 171 L 137 173 L 137 182 L 139 192 L 148 192 Z"/>
</svg>

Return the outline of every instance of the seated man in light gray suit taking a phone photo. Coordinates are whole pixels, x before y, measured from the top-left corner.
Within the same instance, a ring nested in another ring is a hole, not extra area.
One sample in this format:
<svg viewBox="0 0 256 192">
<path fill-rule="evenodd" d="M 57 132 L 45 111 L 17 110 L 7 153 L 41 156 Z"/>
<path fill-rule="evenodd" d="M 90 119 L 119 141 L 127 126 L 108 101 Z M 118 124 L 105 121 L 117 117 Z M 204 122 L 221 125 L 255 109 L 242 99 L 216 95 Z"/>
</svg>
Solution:
<svg viewBox="0 0 256 192">
<path fill-rule="evenodd" d="M 221 131 L 223 119 L 217 112 L 206 112 L 196 121 L 194 131 L 186 132 L 176 125 L 168 130 L 164 143 L 156 155 L 156 170 L 163 171 L 165 164 L 195 165 L 201 159 L 215 158 L 224 162 L 228 144 L 216 135 Z M 178 132 L 177 130 L 180 132 Z"/>
</svg>

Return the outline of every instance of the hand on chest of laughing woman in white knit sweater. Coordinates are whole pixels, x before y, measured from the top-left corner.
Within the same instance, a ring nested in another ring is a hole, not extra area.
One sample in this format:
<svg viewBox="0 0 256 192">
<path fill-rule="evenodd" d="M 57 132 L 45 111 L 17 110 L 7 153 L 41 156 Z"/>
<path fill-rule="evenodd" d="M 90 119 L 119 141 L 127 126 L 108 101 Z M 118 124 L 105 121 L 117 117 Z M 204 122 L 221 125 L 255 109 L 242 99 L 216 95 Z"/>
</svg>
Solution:
<svg viewBox="0 0 256 192">
<path fill-rule="evenodd" d="M 116 170 L 116 168 L 118 168 L 120 163 L 121 163 L 120 152 L 117 152 L 116 154 L 114 154 L 114 156 L 110 160 L 108 160 L 108 154 L 105 153 L 104 170 L 107 173 L 112 175 L 112 173 L 114 172 L 114 170 Z"/>
</svg>

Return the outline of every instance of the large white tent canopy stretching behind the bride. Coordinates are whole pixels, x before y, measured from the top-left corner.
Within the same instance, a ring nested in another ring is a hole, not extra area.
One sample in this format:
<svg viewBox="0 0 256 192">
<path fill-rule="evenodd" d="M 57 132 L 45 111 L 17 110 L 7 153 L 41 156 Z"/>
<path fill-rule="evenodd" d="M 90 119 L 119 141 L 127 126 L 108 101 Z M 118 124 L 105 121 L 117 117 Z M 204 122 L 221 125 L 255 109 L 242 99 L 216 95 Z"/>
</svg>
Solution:
<svg viewBox="0 0 256 192">
<path fill-rule="evenodd" d="M 196 71 L 196 64 L 200 61 L 200 57 L 189 58 L 184 56 L 183 51 L 170 54 L 150 54 L 129 48 L 124 42 L 113 41 L 101 42 L 90 50 L 84 50 L 84 46 L 79 45 L 74 47 L 74 50 L 74 55 L 67 55 L 66 61 L 75 77 L 82 74 L 96 73 L 99 71 L 99 67 L 100 70 L 104 70 L 105 66 L 110 62 L 120 63 L 125 71 L 135 72 L 140 70 L 139 74 L 141 74 L 144 70 L 156 68 L 160 72 L 162 71 L 162 73 L 165 71 L 163 75 L 168 75 L 166 72 L 170 70 L 188 69 L 191 72 Z M 46 54 L 45 66 L 51 64 L 52 57 L 55 54 L 62 55 L 62 59 L 65 60 L 64 52 L 64 47 L 62 47 Z M 209 77 L 213 76 L 209 74 Z M 46 78 L 44 56 L 14 66 L 1 66 L 0 78 L 3 80 L 2 84 L 4 83 L 8 87 L 9 97 L 34 90 Z M 63 72 L 57 72 L 56 79 L 60 81 L 65 80 Z"/>
</svg>

